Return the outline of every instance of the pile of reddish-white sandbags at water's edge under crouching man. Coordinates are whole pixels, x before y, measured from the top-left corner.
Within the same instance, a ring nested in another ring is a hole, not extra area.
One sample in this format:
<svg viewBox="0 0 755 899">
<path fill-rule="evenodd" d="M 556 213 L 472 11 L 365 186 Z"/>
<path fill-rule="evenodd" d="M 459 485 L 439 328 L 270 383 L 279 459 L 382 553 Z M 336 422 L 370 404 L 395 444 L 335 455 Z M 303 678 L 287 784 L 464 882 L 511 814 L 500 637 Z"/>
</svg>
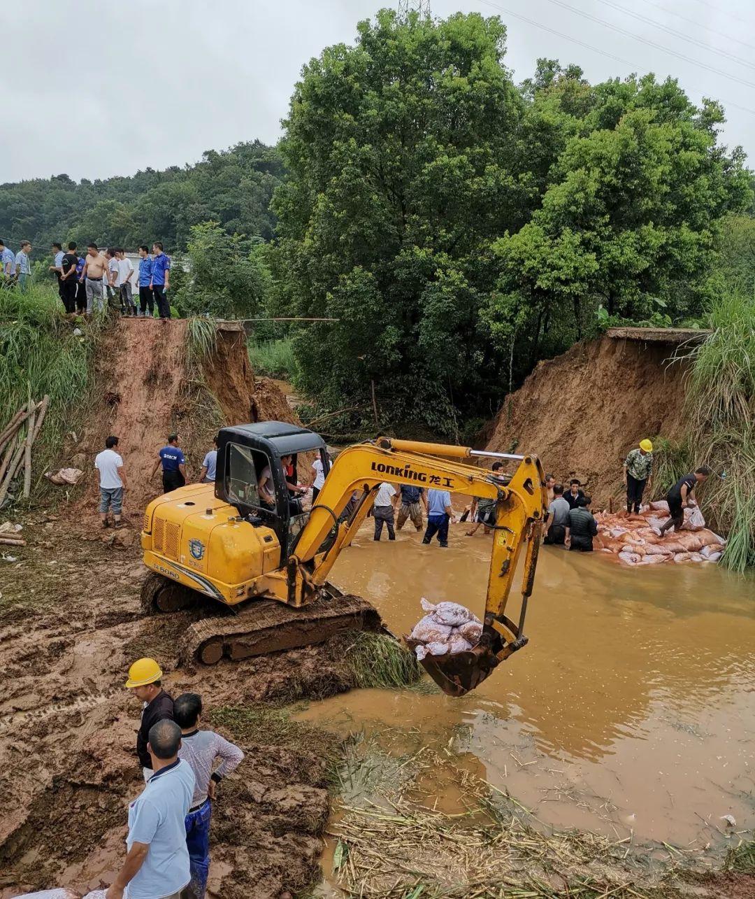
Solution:
<svg viewBox="0 0 755 899">
<path fill-rule="evenodd" d="M 726 541 L 706 528 L 703 513 L 693 506 L 684 510 L 681 530 L 667 531 L 659 537 L 660 529 L 669 518 L 669 504 L 665 500 L 644 506 L 639 515 L 627 512 L 599 512 L 598 536 L 595 549 L 613 553 L 625 565 L 660 565 L 662 562 L 717 562 L 724 552 Z"/>
</svg>

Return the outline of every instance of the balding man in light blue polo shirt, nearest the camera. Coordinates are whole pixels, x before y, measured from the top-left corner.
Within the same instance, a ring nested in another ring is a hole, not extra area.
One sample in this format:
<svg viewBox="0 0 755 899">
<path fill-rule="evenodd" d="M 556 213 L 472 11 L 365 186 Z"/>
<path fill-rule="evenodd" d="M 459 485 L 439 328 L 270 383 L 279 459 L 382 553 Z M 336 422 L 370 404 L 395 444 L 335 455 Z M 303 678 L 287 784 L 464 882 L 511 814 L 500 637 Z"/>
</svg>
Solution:
<svg viewBox="0 0 755 899">
<path fill-rule="evenodd" d="M 179 899 L 191 880 L 186 814 L 194 772 L 178 758 L 181 728 L 165 718 L 149 729 L 147 749 L 155 773 L 129 805 L 128 854 L 105 899 Z"/>
</svg>

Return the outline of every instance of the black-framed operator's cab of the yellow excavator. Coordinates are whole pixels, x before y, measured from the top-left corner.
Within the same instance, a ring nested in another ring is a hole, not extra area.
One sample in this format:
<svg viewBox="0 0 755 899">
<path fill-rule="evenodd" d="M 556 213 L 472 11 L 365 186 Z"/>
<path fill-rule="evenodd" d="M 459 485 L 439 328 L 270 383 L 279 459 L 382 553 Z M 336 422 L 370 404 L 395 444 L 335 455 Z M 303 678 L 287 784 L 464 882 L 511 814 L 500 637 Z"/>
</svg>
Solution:
<svg viewBox="0 0 755 899">
<path fill-rule="evenodd" d="M 215 496 L 235 507 L 244 521 L 273 530 L 281 557 L 289 556 L 309 520 L 289 485 L 298 482 L 300 453 L 316 453 L 330 470 L 319 434 L 282 422 L 237 424 L 218 434 Z M 283 459 L 289 464 L 284 466 Z"/>
</svg>

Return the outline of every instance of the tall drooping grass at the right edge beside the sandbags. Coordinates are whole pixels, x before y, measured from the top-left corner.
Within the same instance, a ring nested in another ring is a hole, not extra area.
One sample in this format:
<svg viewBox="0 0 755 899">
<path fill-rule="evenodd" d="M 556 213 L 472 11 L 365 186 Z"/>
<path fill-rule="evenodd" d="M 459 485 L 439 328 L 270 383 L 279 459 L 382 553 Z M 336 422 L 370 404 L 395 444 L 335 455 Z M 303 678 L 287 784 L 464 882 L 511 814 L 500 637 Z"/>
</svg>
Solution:
<svg viewBox="0 0 755 899">
<path fill-rule="evenodd" d="M 689 468 L 709 465 L 701 506 L 728 536 L 723 562 L 755 565 L 755 298 L 727 289 L 710 313 L 714 329 L 686 354 Z"/>
</svg>

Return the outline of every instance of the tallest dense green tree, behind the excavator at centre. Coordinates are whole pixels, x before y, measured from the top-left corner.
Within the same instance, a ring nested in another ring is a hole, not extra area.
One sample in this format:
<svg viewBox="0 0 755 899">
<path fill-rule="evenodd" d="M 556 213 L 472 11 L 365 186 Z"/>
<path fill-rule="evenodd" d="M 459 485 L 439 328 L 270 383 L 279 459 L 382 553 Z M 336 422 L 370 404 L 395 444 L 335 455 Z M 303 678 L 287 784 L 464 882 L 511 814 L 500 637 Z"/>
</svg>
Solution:
<svg viewBox="0 0 755 899">
<path fill-rule="evenodd" d="M 303 387 L 326 406 L 451 432 L 453 400 L 486 379 L 479 308 L 491 246 L 537 198 L 520 175 L 524 104 L 497 17 L 382 11 L 356 46 L 304 68 L 276 192 L 280 308 L 332 316 L 296 339 Z M 371 413 L 370 413 L 371 415 Z"/>
</svg>

